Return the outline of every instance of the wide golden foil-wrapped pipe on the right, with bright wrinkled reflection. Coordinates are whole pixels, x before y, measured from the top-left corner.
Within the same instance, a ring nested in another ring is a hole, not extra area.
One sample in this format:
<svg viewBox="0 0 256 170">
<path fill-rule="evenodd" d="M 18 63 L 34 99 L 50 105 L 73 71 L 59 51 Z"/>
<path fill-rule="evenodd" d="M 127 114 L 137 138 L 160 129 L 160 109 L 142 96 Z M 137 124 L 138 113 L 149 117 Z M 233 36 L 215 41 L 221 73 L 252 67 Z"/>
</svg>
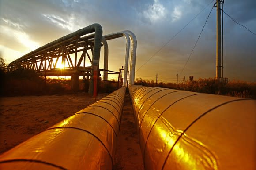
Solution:
<svg viewBox="0 0 256 170">
<path fill-rule="evenodd" d="M 256 169 L 256 100 L 129 86 L 147 170 Z"/>
</svg>

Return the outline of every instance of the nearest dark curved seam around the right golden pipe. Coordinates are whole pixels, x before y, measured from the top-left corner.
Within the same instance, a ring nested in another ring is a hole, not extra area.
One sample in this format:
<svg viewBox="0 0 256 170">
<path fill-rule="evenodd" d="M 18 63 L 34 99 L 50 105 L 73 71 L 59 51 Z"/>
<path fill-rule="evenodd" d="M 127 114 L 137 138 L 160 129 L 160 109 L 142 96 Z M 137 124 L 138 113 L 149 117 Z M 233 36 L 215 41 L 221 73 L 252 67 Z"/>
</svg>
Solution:
<svg viewBox="0 0 256 170">
<path fill-rule="evenodd" d="M 194 123 L 196 123 L 196 121 L 198 121 L 198 120 L 199 120 L 200 118 L 202 118 L 203 116 L 207 115 L 207 113 L 209 113 L 209 112 L 211 112 L 211 111 L 213 111 L 213 110 L 215 110 L 215 109 L 217 109 L 217 108 L 219 108 L 219 107 L 221 107 L 221 106 L 223 106 L 223 105 L 226 105 L 226 104 L 228 104 L 228 103 L 232 103 L 232 102 L 235 102 L 235 101 L 242 101 L 242 100 L 252 100 L 252 99 L 249 99 L 249 98 L 240 98 L 240 99 L 235 99 L 235 100 L 233 100 L 233 101 L 226 101 L 226 102 L 224 102 L 224 103 L 222 103 L 222 104 L 219 104 L 219 105 L 213 107 L 212 109 L 207 110 L 207 111 L 204 112 L 202 115 L 200 115 L 198 118 L 196 118 L 194 121 L 192 121 L 192 123 L 190 123 L 190 124 L 188 125 L 188 127 L 186 127 L 185 130 L 183 130 L 183 132 L 181 133 L 181 135 L 180 135 L 180 136 L 178 137 L 178 139 L 174 142 L 172 148 L 170 149 L 170 151 L 168 152 L 168 155 L 166 156 L 166 159 L 165 159 L 165 161 L 164 161 L 164 163 L 163 163 L 163 166 L 162 166 L 162 170 L 164 169 L 164 167 L 165 167 L 165 165 L 166 165 L 166 161 L 167 161 L 167 159 L 168 159 L 170 153 L 172 152 L 174 146 L 175 146 L 175 145 L 177 144 L 177 142 L 181 139 L 181 137 L 184 136 L 184 133 L 185 133 Z"/>
</svg>

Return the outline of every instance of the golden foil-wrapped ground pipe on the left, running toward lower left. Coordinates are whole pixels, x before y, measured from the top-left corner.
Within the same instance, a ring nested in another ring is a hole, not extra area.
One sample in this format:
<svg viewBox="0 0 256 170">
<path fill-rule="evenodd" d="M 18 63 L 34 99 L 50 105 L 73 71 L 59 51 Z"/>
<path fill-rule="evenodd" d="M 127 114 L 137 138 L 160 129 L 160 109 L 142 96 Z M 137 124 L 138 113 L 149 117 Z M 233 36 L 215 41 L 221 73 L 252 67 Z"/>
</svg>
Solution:
<svg viewBox="0 0 256 170">
<path fill-rule="evenodd" d="M 125 87 L 0 155 L 1 170 L 111 170 Z"/>
</svg>

